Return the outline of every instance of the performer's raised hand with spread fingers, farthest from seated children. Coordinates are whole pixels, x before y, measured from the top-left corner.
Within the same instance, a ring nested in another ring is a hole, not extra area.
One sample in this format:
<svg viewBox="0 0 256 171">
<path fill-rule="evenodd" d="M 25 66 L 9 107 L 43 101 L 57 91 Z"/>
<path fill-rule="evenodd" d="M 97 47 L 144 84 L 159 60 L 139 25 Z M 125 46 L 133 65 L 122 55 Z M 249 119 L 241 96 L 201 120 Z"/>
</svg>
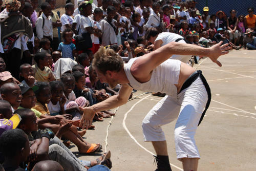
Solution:
<svg viewBox="0 0 256 171">
<path fill-rule="evenodd" d="M 210 47 L 210 53 L 208 55 L 208 57 L 211 59 L 212 62 L 217 63 L 217 65 L 219 67 L 221 67 L 221 62 L 219 60 L 217 60 L 221 55 L 225 55 L 228 54 L 229 49 L 231 49 L 231 47 L 228 46 L 228 44 L 224 44 L 221 45 L 222 41 L 219 42 L 219 44 L 216 44 L 212 47 Z"/>
</svg>

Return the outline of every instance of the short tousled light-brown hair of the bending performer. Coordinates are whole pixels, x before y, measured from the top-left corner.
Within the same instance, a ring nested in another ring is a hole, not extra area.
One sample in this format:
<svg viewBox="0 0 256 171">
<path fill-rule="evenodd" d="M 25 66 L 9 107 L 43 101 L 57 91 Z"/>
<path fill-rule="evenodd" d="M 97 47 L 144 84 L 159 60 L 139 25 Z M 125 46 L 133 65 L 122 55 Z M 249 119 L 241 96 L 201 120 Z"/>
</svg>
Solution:
<svg viewBox="0 0 256 171">
<path fill-rule="evenodd" d="M 101 46 L 94 54 L 92 66 L 103 74 L 106 71 L 119 72 L 123 68 L 123 60 L 113 49 L 105 49 Z"/>
</svg>

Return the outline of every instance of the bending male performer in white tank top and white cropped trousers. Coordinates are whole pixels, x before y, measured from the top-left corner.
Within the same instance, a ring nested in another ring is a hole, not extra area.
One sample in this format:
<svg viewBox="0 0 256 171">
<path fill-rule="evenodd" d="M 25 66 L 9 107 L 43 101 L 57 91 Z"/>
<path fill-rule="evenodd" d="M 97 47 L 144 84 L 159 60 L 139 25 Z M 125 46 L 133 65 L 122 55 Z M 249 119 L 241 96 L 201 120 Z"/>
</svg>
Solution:
<svg viewBox="0 0 256 171">
<path fill-rule="evenodd" d="M 125 104 L 133 89 L 166 93 L 142 122 L 144 141 L 152 141 L 155 148 L 156 170 L 172 170 L 161 126 L 178 117 L 174 131 L 177 158 L 182 161 L 185 171 L 196 171 L 200 155 L 194 136 L 203 119 L 204 110 L 209 106 L 210 89 L 201 71 L 169 57 L 173 54 L 207 56 L 221 67 L 217 59 L 230 49 L 228 44 L 221 44 L 202 48 L 170 42 L 125 64 L 113 50 L 101 47 L 94 55 L 93 68 L 101 82 L 109 83 L 112 88 L 120 83 L 122 87 L 118 95 L 88 108 L 80 108 L 84 111 L 80 127 L 88 129 L 96 112 Z"/>
</svg>

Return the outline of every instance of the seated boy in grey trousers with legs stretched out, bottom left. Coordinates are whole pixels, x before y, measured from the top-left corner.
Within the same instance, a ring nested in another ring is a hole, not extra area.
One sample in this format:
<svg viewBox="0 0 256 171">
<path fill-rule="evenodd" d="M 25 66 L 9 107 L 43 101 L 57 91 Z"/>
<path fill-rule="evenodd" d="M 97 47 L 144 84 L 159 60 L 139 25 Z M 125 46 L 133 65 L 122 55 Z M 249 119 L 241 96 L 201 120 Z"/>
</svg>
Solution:
<svg viewBox="0 0 256 171">
<path fill-rule="evenodd" d="M 33 158 L 33 161 L 51 159 L 61 163 L 66 170 L 83 170 L 83 167 L 88 168 L 99 164 L 106 155 L 102 155 L 97 161 L 78 160 L 58 139 L 61 137 L 63 132 L 70 129 L 72 125 L 71 122 L 60 126 L 58 132 L 54 136 L 54 133 L 50 129 L 37 130 L 38 124 L 33 111 L 29 109 L 19 109 L 16 112 L 22 118 L 22 121 L 19 123 L 19 128 L 25 131 L 30 141 L 34 141 L 36 143 L 31 145 L 31 148 L 34 149 L 32 152 L 37 155 L 36 158 Z M 39 142 L 37 140 L 39 140 Z M 48 155 L 48 153 L 50 155 Z M 60 156 L 65 156 L 65 158 L 60 158 Z"/>
</svg>

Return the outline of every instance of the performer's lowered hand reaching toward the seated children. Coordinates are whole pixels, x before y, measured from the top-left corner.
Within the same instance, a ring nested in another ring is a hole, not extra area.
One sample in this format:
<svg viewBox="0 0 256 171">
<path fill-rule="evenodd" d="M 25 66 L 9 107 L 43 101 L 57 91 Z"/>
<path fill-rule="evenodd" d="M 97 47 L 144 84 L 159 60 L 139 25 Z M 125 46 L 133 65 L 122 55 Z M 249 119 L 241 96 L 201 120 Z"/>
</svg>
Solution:
<svg viewBox="0 0 256 171">
<path fill-rule="evenodd" d="M 88 130 L 93 122 L 93 117 L 95 115 L 95 112 L 90 107 L 88 108 L 79 107 L 79 109 L 80 111 L 83 111 L 79 127 L 81 127 L 82 129 L 86 127 L 86 129 Z"/>
</svg>

